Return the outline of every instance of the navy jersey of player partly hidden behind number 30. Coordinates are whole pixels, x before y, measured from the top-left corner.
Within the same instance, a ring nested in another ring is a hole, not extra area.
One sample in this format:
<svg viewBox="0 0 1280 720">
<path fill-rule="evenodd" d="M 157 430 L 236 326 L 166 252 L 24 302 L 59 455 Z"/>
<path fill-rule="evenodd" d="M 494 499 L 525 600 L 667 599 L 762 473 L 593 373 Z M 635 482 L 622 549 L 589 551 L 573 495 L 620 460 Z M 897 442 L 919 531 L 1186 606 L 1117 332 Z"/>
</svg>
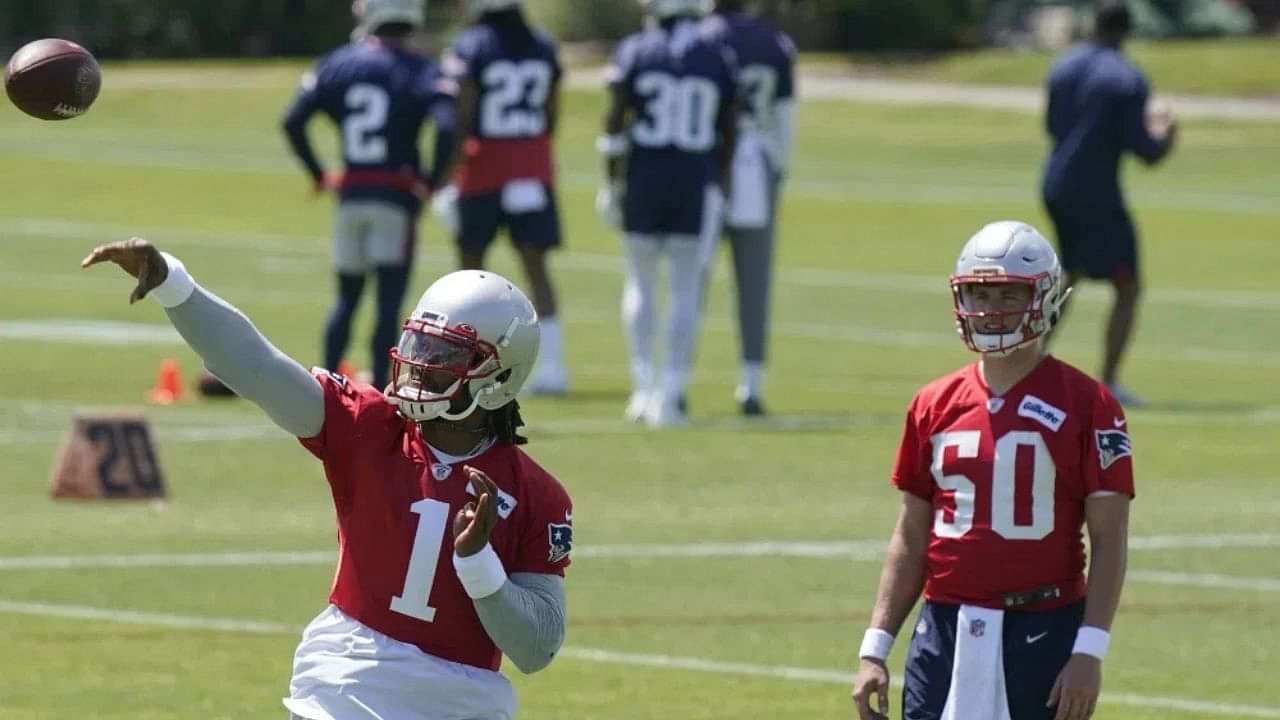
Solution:
<svg viewBox="0 0 1280 720">
<path fill-rule="evenodd" d="M 741 117 L 746 128 L 768 129 L 778 102 L 795 97 L 796 46 L 767 20 L 745 13 L 714 15 L 740 65 Z"/>
</svg>

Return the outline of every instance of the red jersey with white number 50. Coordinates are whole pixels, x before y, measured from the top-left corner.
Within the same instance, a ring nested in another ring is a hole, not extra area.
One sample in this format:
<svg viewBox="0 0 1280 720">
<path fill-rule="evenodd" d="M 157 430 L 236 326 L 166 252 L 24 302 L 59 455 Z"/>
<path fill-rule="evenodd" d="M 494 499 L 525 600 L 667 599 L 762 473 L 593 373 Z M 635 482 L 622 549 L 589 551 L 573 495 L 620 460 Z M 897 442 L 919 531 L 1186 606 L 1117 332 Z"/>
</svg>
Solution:
<svg viewBox="0 0 1280 720">
<path fill-rule="evenodd" d="M 1129 428 L 1097 380 L 1052 356 L 1004 396 L 978 364 L 916 393 L 892 483 L 933 505 L 924 596 L 1002 607 L 1055 585 L 1084 596 L 1084 501 L 1134 495 Z"/>
</svg>

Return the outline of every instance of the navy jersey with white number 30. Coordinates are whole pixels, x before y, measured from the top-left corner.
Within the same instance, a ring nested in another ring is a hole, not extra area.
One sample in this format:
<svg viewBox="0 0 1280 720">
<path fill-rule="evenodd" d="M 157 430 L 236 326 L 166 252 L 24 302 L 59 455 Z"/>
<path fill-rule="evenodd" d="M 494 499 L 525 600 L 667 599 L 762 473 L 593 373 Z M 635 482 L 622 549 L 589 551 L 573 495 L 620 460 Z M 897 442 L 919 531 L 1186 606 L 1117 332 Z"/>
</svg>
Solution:
<svg viewBox="0 0 1280 720">
<path fill-rule="evenodd" d="M 686 19 L 627 37 L 608 81 L 632 117 L 627 193 L 700 196 L 718 182 L 717 119 L 736 97 L 737 60 L 712 24 Z"/>
</svg>

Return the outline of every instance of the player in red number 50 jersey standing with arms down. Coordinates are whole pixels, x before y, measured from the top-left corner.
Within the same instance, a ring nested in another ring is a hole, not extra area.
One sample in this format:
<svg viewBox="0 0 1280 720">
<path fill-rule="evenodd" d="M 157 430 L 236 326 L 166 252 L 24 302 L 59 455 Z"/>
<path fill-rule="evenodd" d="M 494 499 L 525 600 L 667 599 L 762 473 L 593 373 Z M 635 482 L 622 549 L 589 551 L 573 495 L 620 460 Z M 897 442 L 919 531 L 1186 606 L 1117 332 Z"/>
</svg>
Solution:
<svg viewBox="0 0 1280 720">
<path fill-rule="evenodd" d="M 1124 411 L 1044 350 L 1069 290 L 1034 228 L 982 228 L 951 291 L 960 337 L 980 356 L 908 410 L 892 473 L 902 509 L 859 652 L 858 716 L 888 717 L 886 660 L 923 591 L 905 720 L 1084 720 L 1128 556 Z"/>
</svg>

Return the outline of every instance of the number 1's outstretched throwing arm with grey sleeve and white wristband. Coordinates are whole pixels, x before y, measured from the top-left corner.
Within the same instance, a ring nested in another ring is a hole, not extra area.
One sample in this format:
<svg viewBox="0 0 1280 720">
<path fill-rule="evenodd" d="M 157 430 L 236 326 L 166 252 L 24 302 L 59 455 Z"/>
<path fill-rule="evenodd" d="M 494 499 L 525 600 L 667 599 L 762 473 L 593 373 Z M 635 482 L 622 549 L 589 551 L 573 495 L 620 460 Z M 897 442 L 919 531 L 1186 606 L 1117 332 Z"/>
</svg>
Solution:
<svg viewBox="0 0 1280 720">
<path fill-rule="evenodd" d="M 243 313 L 197 286 L 177 258 L 133 238 L 93 249 L 81 266 L 105 261 L 138 279 L 129 302 L 152 295 L 164 305 L 178 333 L 227 387 L 265 410 L 293 436 L 320 433 L 324 425 L 320 383 L 262 337 Z"/>
</svg>

